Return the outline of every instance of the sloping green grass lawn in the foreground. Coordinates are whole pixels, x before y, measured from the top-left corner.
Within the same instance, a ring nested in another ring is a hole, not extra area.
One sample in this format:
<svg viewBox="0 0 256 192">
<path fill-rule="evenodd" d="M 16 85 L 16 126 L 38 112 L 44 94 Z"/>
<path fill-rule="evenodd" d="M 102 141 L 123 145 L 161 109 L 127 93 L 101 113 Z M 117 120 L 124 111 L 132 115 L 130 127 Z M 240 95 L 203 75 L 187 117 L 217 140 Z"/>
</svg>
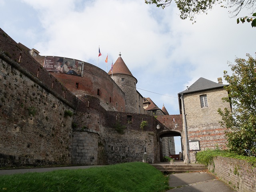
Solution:
<svg viewBox="0 0 256 192">
<path fill-rule="evenodd" d="M 168 176 L 142 162 L 0 176 L 0 192 L 164 192 Z"/>
</svg>

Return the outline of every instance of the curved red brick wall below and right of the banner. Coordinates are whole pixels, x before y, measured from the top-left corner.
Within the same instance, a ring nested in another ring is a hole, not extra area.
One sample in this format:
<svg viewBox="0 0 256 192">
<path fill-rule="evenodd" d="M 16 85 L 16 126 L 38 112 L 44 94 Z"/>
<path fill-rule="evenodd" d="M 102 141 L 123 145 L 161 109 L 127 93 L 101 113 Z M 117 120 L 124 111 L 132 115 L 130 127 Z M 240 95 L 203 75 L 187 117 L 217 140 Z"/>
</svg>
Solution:
<svg viewBox="0 0 256 192">
<path fill-rule="evenodd" d="M 44 56 L 34 58 L 42 66 L 44 65 Z M 106 110 L 123 110 L 124 112 L 126 110 L 124 92 L 104 70 L 97 66 L 84 62 L 84 75 L 82 77 L 55 72 L 50 74 L 60 80 L 76 96 L 91 95 L 98 97 L 101 106 Z M 118 106 L 116 106 L 116 102 Z"/>
</svg>

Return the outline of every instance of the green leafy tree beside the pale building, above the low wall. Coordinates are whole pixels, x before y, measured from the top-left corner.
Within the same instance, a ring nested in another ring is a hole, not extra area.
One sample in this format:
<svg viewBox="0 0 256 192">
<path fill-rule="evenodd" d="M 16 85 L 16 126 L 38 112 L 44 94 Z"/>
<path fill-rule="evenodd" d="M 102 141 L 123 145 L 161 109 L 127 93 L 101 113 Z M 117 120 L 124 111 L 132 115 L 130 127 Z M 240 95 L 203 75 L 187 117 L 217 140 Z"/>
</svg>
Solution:
<svg viewBox="0 0 256 192">
<path fill-rule="evenodd" d="M 232 75 L 224 71 L 229 83 L 224 102 L 232 104 L 232 110 L 218 109 L 222 126 L 226 127 L 228 148 L 240 155 L 256 156 L 256 58 L 247 54 L 248 60 L 236 58 L 231 64 Z"/>
</svg>

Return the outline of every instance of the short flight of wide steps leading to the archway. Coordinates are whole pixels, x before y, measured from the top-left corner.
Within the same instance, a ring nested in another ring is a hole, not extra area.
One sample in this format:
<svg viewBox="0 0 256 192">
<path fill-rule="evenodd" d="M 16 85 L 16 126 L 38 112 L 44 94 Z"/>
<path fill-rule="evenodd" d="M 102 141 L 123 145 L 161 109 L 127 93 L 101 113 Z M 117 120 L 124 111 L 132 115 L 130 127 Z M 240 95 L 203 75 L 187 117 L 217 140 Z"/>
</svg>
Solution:
<svg viewBox="0 0 256 192">
<path fill-rule="evenodd" d="M 202 164 L 184 164 L 178 163 L 174 165 L 170 165 L 170 163 L 157 163 L 152 164 L 155 168 L 160 170 L 164 174 L 171 174 L 171 173 L 184 173 L 184 172 L 203 172 L 207 168 L 205 165 Z"/>
</svg>

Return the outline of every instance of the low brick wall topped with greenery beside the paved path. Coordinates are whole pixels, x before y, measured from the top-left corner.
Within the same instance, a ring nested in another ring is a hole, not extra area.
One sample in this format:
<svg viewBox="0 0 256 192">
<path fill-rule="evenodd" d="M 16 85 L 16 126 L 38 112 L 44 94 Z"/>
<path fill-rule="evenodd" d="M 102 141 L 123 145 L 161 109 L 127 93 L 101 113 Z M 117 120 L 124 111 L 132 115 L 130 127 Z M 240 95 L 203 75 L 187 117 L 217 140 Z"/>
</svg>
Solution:
<svg viewBox="0 0 256 192">
<path fill-rule="evenodd" d="M 236 191 L 256 192 L 256 168 L 244 160 L 217 156 L 208 170 Z"/>
</svg>

